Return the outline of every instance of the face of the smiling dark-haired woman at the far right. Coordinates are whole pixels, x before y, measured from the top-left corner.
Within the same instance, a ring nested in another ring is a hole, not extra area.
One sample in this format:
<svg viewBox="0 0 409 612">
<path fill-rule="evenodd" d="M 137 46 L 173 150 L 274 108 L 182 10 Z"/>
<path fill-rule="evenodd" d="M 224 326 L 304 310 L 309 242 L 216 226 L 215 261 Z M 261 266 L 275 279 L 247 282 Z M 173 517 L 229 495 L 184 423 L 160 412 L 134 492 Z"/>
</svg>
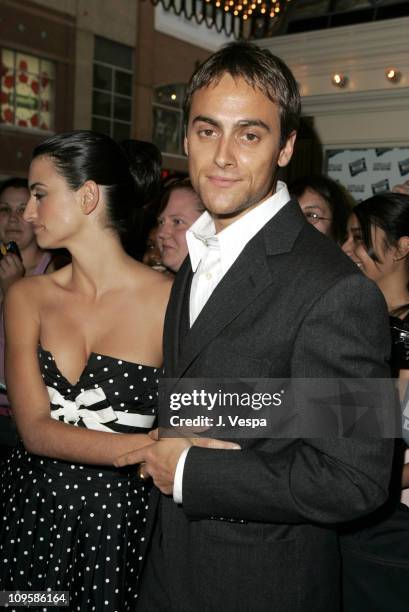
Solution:
<svg viewBox="0 0 409 612">
<path fill-rule="evenodd" d="M 379 227 L 371 227 L 373 250 L 379 257 L 379 262 L 368 255 L 362 241 L 362 233 L 356 215 L 352 214 L 347 224 L 347 239 L 342 250 L 362 270 L 368 278 L 376 283 L 389 276 L 394 270 L 395 252 L 387 245 L 385 232 Z"/>
</svg>

